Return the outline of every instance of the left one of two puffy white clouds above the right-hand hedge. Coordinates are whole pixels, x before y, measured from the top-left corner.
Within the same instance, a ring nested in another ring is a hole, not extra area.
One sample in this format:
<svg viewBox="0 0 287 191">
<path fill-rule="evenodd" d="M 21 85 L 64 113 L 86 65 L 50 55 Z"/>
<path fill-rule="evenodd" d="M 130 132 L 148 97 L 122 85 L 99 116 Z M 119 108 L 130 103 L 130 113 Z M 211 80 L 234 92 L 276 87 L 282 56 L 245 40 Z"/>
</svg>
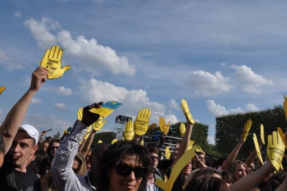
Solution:
<svg viewBox="0 0 287 191">
<path fill-rule="evenodd" d="M 229 84 L 229 78 L 223 77 L 220 71 L 216 71 L 215 75 L 202 70 L 190 72 L 185 81 L 195 93 L 203 96 L 217 95 L 234 88 Z"/>
</svg>

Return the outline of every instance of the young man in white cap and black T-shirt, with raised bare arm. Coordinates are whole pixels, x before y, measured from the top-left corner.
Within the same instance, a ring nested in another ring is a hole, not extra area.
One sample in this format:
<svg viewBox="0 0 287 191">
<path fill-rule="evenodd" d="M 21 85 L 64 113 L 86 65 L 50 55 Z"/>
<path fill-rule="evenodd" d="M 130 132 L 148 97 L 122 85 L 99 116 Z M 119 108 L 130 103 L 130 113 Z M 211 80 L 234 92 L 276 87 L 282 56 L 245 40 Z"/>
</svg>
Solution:
<svg viewBox="0 0 287 191">
<path fill-rule="evenodd" d="M 5 158 L 0 168 L 0 190 L 40 191 L 41 183 L 35 173 L 27 169 L 28 159 L 38 146 L 39 133 L 31 125 L 20 125 L 32 98 L 41 84 L 47 80 L 48 70 L 37 68 L 31 79 L 31 86 L 7 114 L 0 127 L 5 147 Z M 7 154 L 7 155 L 6 155 Z"/>
</svg>

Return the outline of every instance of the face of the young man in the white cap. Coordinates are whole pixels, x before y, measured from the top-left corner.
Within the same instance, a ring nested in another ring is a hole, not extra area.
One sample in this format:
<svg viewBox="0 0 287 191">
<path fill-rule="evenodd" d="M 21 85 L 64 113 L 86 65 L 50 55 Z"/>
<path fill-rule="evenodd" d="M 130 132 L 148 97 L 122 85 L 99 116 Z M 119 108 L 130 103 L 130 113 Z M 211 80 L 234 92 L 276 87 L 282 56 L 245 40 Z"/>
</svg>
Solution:
<svg viewBox="0 0 287 191">
<path fill-rule="evenodd" d="M 9 150 L 9 162 L 14 168 L 26 168 L 29 157 L 34 155 L 37 145 L 35 139 L 31 138 L 26 132 L 18 131 Z"/>
</svg>

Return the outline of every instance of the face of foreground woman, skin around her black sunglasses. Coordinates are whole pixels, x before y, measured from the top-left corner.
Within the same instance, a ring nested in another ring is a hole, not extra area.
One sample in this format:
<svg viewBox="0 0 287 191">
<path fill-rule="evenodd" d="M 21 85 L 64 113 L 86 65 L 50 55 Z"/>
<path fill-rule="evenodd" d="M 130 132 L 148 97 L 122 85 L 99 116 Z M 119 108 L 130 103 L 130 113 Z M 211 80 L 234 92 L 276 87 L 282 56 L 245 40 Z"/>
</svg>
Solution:
<svg viewBox="0 0 287 191">
<path fill-rule="evenodd" d="M 127 167 L 124 168 L 124 171 L 129 167 L 141 167 L 142 164 L 139 163 L 138 158 L 139 157 L 136 155 L 125 156 L 125 158 L 120 162 L 122 167 Z M 138 173 L 131 171 L 128 175 L 120 175 L 121 173 L 117 174 L 116 169 L 118 169 L 118 173 L 121 170 L 120 168 L 112 168 L 109 170 L 109 191 L 137 191 L 139 189 L 143 178 L 137 177 Z"/>
</svg>

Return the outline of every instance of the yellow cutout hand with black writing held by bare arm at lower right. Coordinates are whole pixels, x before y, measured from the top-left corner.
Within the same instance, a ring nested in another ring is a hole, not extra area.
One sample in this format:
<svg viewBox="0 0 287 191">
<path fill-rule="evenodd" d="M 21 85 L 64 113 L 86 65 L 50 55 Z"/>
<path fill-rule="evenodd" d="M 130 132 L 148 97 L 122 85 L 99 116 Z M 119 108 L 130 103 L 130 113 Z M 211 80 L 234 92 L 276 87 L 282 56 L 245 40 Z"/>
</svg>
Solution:
<svg viewBox="0 0 287 191">
<path fill-rule="evenodd" d="M 284 151 L 285 146 L 278 131 L 273 131 L 272 135 L 268 136 L 267 156 L 276 171 L 281 166 Z"/>
</svg>

